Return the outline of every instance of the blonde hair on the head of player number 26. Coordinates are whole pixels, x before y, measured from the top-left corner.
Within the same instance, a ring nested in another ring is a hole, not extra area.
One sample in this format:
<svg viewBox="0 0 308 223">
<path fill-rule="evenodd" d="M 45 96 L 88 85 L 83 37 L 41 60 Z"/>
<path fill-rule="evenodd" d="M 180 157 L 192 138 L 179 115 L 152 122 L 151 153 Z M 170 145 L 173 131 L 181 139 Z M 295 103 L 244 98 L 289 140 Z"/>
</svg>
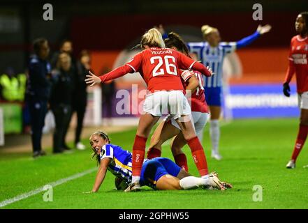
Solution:
<svg viewBox="0 0 308 223">
<path fill-rule="evenodd" d="M 145 49 L 145 46 L 148 47 L 159 47 L 164 48 L 165 43 L 163 42 L 163 37 L 157 29 L 149 29 L 141 38 L 140 42 L 141 48 Z"/>
</svg>

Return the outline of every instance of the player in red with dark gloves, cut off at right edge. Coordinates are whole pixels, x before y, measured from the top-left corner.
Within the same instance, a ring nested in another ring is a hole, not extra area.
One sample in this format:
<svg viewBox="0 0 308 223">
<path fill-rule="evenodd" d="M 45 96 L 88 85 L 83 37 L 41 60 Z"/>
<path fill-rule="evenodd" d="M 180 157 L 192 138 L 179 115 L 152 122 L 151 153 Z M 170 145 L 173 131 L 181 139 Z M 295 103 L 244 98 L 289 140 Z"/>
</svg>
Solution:
<svg viewBox="0 0 308 223">
<path fill-rule="evenodd" d="M 291 82 L 295 73 L 300 107 L 300 129 L 291 160 L 286 164 L 286 168 L 289 169 L 295 168 L 296 159 L 305 144 L 308 134 L 308 12 L 298 15 L 295 21 L 295 29 L 299 35 L 294 36 L 291 40 L 288 71 L 284 82 L 284 95 L 290 97 L 288 83 Z"/>
</svg>

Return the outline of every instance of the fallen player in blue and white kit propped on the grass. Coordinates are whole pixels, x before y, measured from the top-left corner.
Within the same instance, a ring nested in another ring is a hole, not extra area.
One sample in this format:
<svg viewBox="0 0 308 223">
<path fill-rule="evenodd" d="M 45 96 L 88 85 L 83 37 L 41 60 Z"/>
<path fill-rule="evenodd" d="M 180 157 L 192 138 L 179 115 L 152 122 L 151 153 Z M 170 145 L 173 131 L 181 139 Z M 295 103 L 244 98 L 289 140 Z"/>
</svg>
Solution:
<svg viewBox="0 0 308 223">
<path fill-rule="evenodd" d="M 94 132 L 89 140 L 94 151 L 93 157 L 96 157 L 99 164 L 91 192 L 98 191 L 107 170 L 116 176 L 115 184 L 117 189 L 124 190 L 126 185 L 131 184 L 132 154 L 129 151 L 124 151 L 120 146 L 110 144 L 110 139 L 104 132 Z M 164 157 L 145 160 L 142 165 L 140 185 L 147 185 L 154 190 L 188 190 L 197 187 L 225 190 L 232 187 L 228 183 L 221 182 L 216 173 L 210 174 L 209 178 L 190 176 L 172 160 Z M 127 187 L 125 191 L 128 192 L 130 188 Z"/>
</svg>

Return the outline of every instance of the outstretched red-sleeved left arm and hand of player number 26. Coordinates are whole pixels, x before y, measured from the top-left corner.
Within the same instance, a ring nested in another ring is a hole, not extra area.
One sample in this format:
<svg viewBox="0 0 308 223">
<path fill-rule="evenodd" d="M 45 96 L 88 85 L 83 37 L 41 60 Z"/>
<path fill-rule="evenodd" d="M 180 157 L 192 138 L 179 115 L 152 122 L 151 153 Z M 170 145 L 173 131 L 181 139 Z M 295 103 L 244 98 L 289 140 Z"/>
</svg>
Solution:
<svg viewBox="0 0 308 223">
<path fill-rule="evenodd" d="M 87 79 L 85 79 L 85 82 L 87 84 L 91 84 L 90 86 L 94 86 L 94 84 L 99 84 L 101 82 L 108 82 L 112 79 L 122 77 L 129 72 L 134 72 L 134 71 L 133 71 L 133 68 L 131 68 L 131 66 L 129 66 L 127 64 L 124 65 L 124 66 L 121 66 L 119 68 L 116 68 L 115 70 L 112 70 L 112 71 L 108 72 L 107 74 L 101 75 L 99 77 L 97 77 L 96 75 L 94 75 L 94 73 L 89 71 L 89 75 L 86 76 Z"/>
</svg>

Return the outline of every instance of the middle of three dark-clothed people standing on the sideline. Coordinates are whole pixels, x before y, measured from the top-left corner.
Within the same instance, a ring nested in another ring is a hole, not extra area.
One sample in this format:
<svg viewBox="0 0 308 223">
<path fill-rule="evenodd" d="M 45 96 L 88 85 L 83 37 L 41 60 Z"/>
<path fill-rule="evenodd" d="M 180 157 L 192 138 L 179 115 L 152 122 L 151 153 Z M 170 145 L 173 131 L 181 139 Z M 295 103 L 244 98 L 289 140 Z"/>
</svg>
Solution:
<svg viewBox="0 0 308 223">
<path fill-rule="evenodd" d="M 68 150 L 65 138 L 70 122 L 72 95 L 74 91 L 74 73 L 71 56 L 65 52 L 59 54 L 57 70 L 52 74 L 53 86 L 50 96 L 50 108 L 54 114 L 56 128 L 53 135 L 53 153 Z"/>
</svg>

